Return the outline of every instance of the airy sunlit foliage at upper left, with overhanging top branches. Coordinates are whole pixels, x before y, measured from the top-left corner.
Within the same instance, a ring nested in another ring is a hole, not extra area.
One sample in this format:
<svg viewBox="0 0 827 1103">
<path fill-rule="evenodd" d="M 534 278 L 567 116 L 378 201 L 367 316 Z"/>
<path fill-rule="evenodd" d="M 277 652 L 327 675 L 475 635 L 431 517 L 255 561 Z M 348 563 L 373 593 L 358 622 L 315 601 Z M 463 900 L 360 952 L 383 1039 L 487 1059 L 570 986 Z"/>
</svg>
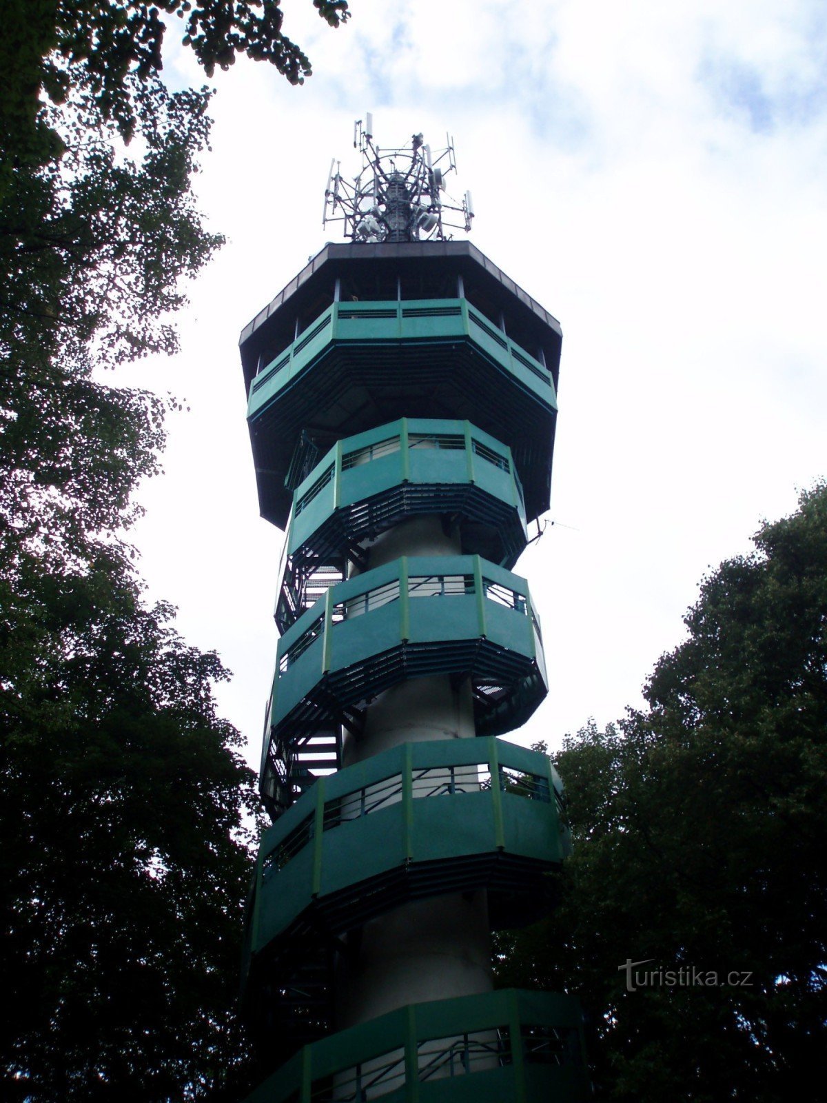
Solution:
<svg viewBox="0 0 827 1103">
<path fill-rule="evenodd" d="M 315 0 L 336 25 L 344 0 Z M 138 0 L 11 0 L 0 39 L 0 539 L 69 554 L 155 470 L 162 404 L 93 366 L 174 352 L 181 281 L 222 244 L 195 208 L 205 90 L 170 93 Z M 167 0 L 207 72 L 246 52 L 309 72 L 265 0 Z M 129 157 L 123 142 L 137 156 Z M 117 526 L 116 526 L 117 527 Z M 9 555 L 7 547 L 7 558 Z"/>
</svg>

